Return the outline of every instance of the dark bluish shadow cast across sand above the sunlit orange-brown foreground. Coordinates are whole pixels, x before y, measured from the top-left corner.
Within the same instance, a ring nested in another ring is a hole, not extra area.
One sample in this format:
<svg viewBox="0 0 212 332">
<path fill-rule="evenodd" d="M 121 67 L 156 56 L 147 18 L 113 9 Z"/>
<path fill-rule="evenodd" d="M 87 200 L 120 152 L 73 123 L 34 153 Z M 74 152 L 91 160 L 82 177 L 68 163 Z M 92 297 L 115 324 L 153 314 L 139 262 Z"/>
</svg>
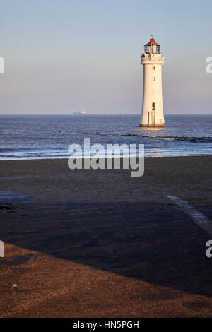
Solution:
<svg viewBox="0 0 212 332">
<path fill-rule="evenodd" d="M 209 235 L 172 203 L 0 204 L 1 239 L 33 251 L 212 295 Z"/>
</svg>

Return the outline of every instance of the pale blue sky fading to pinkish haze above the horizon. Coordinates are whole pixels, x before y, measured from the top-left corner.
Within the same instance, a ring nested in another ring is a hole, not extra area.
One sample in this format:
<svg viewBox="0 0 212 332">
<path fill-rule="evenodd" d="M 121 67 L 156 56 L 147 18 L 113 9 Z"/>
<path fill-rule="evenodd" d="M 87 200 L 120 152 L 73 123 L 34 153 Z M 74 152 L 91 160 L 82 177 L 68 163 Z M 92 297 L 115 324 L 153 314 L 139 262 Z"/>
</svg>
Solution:
<svg viewBox="0 0 212 332">
<path fill-rule="evenodd" d="M 211 0 L 0 0 L 0 114 L 141 114 L 160 43 L 165 114 L 212 114 Z"/>
</svg>

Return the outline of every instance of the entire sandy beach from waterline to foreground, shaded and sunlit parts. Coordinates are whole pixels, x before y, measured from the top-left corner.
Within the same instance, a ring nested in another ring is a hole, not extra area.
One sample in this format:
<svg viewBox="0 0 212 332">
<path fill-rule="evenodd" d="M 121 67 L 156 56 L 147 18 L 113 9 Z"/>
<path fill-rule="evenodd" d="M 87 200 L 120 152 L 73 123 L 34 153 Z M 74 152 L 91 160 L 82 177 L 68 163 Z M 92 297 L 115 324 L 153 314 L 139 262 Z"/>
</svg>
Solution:
<svg viewBox="0 0 212 332">
<path fill-rule="evenodd" d="M 0 316 L 212 316 L 212 236 L 167 197 L 212 221 L 211 168 L 210 156 L 146 158 L 143 177 L 1 161 Z"/>
</svg>

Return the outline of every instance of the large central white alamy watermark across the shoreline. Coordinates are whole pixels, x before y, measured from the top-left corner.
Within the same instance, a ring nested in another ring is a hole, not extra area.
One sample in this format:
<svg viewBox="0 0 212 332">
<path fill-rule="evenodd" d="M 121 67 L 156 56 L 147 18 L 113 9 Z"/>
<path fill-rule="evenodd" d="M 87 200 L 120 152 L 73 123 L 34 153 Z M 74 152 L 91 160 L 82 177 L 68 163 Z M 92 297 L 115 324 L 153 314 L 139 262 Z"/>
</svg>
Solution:
<svg viewBox="0 0 212 332">
<path fill-rule="evenodd" d="M 142 177 L 144 172 L 143 144 L 93 144 L 85 138 L 83 146 L 69 146 L 68 165 L 71 170 L 131 170 L 131 177 Z"/>
</svg>

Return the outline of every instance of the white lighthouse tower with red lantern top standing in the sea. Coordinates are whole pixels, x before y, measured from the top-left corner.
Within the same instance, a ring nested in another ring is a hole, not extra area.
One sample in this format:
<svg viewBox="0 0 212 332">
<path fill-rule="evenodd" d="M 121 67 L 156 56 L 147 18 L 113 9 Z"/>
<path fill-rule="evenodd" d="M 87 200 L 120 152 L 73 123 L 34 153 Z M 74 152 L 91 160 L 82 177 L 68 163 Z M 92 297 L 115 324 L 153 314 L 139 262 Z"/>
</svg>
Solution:
<svg viewBox="0 0 212 332">
<path fill-rule="evenodd" d="M 141 127 L 164 127 L 162 66 L 164 57 L 160 53 L 160 45 L 153 35 L 148 44 L 144 45 L 141 55 L 143 64 L 143 102 Z"/>
</svg>

